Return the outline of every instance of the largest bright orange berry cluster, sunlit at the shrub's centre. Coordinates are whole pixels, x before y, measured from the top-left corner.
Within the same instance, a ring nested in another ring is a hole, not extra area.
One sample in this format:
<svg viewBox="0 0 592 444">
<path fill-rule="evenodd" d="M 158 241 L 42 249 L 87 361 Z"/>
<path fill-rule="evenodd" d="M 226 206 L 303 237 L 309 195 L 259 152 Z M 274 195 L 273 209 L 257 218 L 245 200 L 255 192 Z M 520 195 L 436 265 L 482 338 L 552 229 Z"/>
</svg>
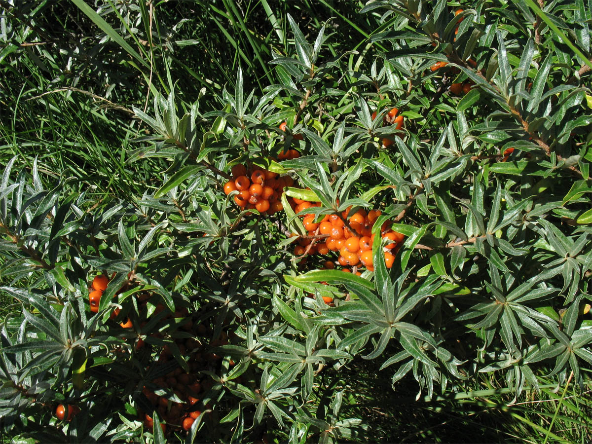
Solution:
<svg viewBox="0 0 592 444">
<path fill-rule="evenodd" d="M 295 201 L 298 203 L 297 200 Z M 308 204 L 308 207 L 312 206 L 310 202 L 305 203 Z M 303 204 L 304 202 L 299 205 Z M 375 234 L 372 233 L 372 227 L 381 215 L 381 211 L 371 210 L 366 213 L 366 210 L 360 209 L 352 215 L 349 213 L 350 208 L 343 211 L 342 214 L 325 215 L 318 223 L 314 221 L 314 214 L 304 214 L 303 224 L 308 231 L 308 236 L 298 240 L 294 254 L 297 256 L 302 256 L 305 253 L 327 255 L 330 251 L 339 252 L 337 259 L 339 265 L 356 268 L 365 266 L 369 271 L 374 271 L 372 245 Z M 382 224 L 380 233 L 381 239 L 390 241 L 385 245 L 383 252 L 387 268 L 392 267 L 395 254 L 404 240 L 403 234 L 391 230 L 390 226 L 390 221 L 386 221 Z M 318 234 L 323 236 L 322 238 L 317 237 L 317 230 Z M 331 268 L 327 263 L 324 266 Z"/>
</svg>

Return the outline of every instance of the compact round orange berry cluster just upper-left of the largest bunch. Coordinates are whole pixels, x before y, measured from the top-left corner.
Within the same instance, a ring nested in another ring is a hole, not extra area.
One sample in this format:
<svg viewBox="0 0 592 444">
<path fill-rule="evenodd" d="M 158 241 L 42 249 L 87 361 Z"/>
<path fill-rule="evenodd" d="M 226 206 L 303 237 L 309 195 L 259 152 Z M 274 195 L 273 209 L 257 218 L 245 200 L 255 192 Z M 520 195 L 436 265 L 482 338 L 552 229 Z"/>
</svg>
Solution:
<svg viewBox="0 0 592 444">
<path fill-rule="evenodd" d="M 300 153 L 288 150 L 287 153 L 280 153 L 280 156 L 295 159 Z M 234 165 L 232 177 L 224 184 L 224 193 L 229 195 L 233 191 L 238 191 L 239 194 L 234 196 L 234 203 L 240 208 L 255 209 L 261 214 L 274 214 L 283 210 L 281 194 L 285 187 L 294 185 L 294 180 L 290 176 L 278 177 L 278 173 L 258 166 L 247 168 L 241 164 Z"/>
</svg>

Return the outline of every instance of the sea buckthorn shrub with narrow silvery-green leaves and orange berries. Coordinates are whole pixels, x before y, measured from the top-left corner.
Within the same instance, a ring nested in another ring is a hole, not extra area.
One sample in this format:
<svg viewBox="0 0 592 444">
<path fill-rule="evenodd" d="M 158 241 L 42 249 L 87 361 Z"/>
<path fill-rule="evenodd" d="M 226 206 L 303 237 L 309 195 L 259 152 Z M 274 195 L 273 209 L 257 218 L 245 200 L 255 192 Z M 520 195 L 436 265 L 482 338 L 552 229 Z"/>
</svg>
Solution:
<svg viewBox="0 0 592 444">
<path fill-rule="evenodd" d="M 418 398 L 491 374 L 514 401 L 541 375 L 587 381 L 583 12 L 543 25 L 536 9 L 461 4 L 368 2 L 359 13 L 384 24 L 372 60 L 288 16 L 290 52 L 269 60 L 281 83 L 239 69 L 207 112 L 203 91 L 156 93 L 133 108 L 148 135 L 127 162 L 164 162 L 134 200 L 97 208 L 12 159 L 2 291 L 22 312 L 1 329 L 2 427 L 360 440 L 348 388 L 320 383 L 355 360 L 394 388 L 414 379 Z"/>
</svg>

